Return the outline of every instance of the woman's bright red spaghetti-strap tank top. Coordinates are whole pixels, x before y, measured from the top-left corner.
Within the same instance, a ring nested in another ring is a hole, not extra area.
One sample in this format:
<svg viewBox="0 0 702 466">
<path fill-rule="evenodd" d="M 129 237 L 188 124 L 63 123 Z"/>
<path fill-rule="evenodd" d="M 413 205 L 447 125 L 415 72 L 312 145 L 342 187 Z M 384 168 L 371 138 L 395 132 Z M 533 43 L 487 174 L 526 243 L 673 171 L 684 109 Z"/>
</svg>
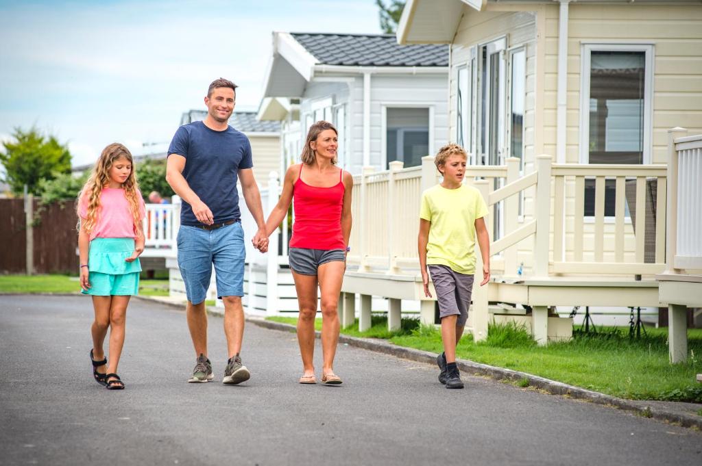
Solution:
<svg viewBox="0 0 702 466">
<path fill-rule="evenodd" d="M 341 208 L 346 188 L 342 182 L 343 170 L 339 170 L 339 182 L 329 188 L 310 186 L 302 180 L 303 165 L 293 186 L 293 237 L 290 247 L 306 249 L 344 249 L 341 234 Z"/>
</svg>

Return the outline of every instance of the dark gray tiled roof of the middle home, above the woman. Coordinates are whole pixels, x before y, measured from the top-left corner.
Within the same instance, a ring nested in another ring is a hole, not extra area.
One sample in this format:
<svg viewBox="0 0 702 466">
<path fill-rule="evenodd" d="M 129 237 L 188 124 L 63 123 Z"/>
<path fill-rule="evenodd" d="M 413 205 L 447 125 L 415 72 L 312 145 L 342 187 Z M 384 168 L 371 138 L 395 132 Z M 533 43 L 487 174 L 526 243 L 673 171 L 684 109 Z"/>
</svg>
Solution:
<svg viewBox="0 0 702 466">
<path fill-rule="evenodd" d="M 293 38 L 319 64 L 364 67 L 448 67 L 449 46 L 401 46 L 392 34 L 308 34 L 291 32 Z"/>
</svg>

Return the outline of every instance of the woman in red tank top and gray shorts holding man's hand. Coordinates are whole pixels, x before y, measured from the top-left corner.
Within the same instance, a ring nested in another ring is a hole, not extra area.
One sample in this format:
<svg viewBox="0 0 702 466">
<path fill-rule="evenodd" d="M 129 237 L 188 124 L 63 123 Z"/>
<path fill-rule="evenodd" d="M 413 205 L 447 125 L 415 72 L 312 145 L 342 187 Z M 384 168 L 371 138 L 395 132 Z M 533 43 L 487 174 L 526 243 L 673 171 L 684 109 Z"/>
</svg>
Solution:
<svg viewBox="0 0 702 466">
<path fill-rule="evenodd" d="M 295 223 L 288 257 L 300 309 L 300 383 L 317 383 L 313 359 L 318 285 L 322 294 L 322 383 L 341 383 L 334 374 L 333 362 L 339 339 L 337 306 L 351 234 L 353 178 L 335 166 L 337 148 L 338 132 L 331 123 L 317 121 L 310 127 L 302 163 L 289 167 L 278 204 L 266 222 L 270 236 L 293 201 Z"/>
</svg>

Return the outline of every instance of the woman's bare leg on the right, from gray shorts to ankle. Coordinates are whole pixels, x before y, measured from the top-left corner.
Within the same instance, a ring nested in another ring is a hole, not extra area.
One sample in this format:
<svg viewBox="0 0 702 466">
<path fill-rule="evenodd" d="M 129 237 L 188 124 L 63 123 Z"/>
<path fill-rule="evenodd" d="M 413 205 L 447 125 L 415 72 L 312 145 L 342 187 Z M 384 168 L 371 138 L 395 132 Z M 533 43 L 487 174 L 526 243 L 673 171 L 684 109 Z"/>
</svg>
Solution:
<svg viewBox="0 0 702 466">
<path fill-rule="evenodd" d="M 334 374 L 334 356 L 339 343 L 339 295 L 346 264 L 342 261 L 323 263 L 317 270 L 322 291 L 322 374 Z"/>
</svg>

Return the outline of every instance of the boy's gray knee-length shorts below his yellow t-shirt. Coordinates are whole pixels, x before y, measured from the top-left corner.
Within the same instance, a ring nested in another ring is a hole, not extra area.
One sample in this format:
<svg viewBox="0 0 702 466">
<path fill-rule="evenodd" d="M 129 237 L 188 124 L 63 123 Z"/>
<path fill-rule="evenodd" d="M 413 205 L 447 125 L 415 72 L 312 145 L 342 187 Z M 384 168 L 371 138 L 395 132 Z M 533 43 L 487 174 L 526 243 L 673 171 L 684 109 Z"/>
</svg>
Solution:
<svg viewBox="0 0 702 466">
<path fill-rule="evenodd" d="M 458 273 L 448 266 L 429 266 L 429 275 L 434 282 L 439 301 L 439 317 L 458 315 L 456 325 L 465 325 L 468 320 L 470 294 L 473 291 L 473 275 Z"/>
</svg>

